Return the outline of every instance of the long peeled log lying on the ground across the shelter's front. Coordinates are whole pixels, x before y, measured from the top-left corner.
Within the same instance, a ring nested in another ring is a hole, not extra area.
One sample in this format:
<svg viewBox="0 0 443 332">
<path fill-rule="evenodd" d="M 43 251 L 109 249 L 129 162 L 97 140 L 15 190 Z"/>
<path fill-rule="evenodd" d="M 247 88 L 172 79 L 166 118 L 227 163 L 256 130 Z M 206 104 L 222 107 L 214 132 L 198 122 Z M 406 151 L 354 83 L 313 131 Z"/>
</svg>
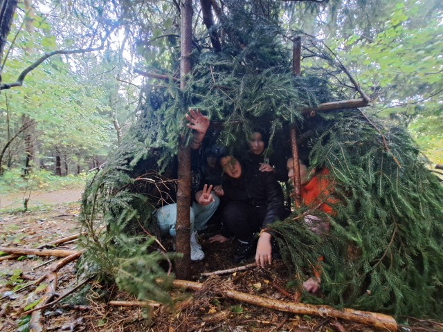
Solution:
<svg viewBox="0 0 443 332">
<path fill-rule="evenodd" d="M 177 279 L 174 281 L 174 286 L 199 291 L 204 287 L 204 284 Z M 382 313 L 371 313 L 369 311 L 358 311 L 354 309 L 338 310 L 332 306 L 314 306 L 312 304 L 284 302 L 277 299 L 269 299 L 257 295 L 241 293 L 230 289 L 224 289 L 221 292 L 221 295 L 229 297 L 230 299 L 287 313 L 341 318 L 342 320 L 375 326 L 379 329 L 386 329 L 388 331 L 397 331 L 398 327 L 397 322 L 393 317 Z"/>
</svg>

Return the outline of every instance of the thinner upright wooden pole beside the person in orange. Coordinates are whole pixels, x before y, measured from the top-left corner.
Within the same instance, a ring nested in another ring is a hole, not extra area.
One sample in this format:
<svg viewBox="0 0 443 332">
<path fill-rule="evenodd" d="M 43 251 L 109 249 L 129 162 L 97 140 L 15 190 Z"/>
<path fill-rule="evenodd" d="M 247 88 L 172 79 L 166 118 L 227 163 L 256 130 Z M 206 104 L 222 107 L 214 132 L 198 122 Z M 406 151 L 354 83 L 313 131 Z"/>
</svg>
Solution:
<svg viewBox="0 0 443 332">
<path fill-rule="evenodd" d="M 300 75 L 302 59 L 302 39 L 296 37 L 293 39 L 292 48 L 292 70 L 295 75 Z M 298 164 L 297 131 L 295 124 L 291 127 L 289 135 L 291 138 L 292 160 L 293 160 L 293 199 L 296 206 L 300 206 L 300 165 Z"/>
</svg>

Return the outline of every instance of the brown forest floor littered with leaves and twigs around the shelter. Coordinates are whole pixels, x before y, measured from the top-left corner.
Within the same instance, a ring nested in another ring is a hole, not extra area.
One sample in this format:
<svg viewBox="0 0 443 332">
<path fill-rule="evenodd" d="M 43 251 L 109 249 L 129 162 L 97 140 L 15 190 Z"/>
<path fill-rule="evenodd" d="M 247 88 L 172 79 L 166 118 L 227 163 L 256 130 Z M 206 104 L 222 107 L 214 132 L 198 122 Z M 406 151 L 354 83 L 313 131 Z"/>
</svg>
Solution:
<svg viewBox="0 0 443 332">
<path fill-rule="evenodd" d="M 71 199 L 62 199 L 69 195 L 55 195 L 54 201 L 58 203 L 33 208 L 28 212 L 0 210 L 0 246 L 37 248 L 48 241 L 78 233 L 78 196 L 74 193 Z M 66 202 L 70 200 L 73 201 Z M 209 243 L 210 232 L 211 228 L 209 232 L 200 235 L 205 259 L 192 264 L 192 279 L 197 282 L 207 279 L 199 277 L 201 272 L 235 267 L 230 259 L 226 259 L 232 255 L 233 244 Z M 164 244 L 168 248 L 172 246 L 172 241 L 165 241 Z M 57 249 L 75 250 L 76 245 L 75 242 L 68 242 Z M 24 292 L 19 292 L 18 288 L 44 275 L 51 264 L 57 261 L 60 258 L 33 255 L 0 261 L 0 331 L 29 331 L 31 315 L 23 313 L 38 303 L 47 284 L 30 286 Z M 275 261 L 271 268 L 251 268 L 229 273 L 214 277 L 212 283 L 214 288 L 229 285 L 243 293 L 293 302 L 291 292 L 284 291 L 287 282 L 282 278 L 284 270 L 284 264 Z M 62 295 L 78 284 L 76 272 L 75 261 L 58 271 L 56 295 Z M 196 293 L 172 291 L 174 297 L 184 295 L 186 299 L 174 309 L 155 306 L 149 314 L 151 320 L 147 320 L 145 308 L 109 305 L 109 300 L 135 300 L 132 295 L 118 291 L 115 286 L 105 289 L 96 282 L 89 282 L 80 289 L 42 311 L 40 321 L 43 331 L 386 331 L 330 317 L 295 315 L 242 304 L 220 297 L 211 288 Z M 443 331 L 443 327 L 440 329 L 438 324 L 419 320 L 412 322 L 419 324 L 418 329 L 415 330 L 411 324 L 408 331 Z"/>
</svg>

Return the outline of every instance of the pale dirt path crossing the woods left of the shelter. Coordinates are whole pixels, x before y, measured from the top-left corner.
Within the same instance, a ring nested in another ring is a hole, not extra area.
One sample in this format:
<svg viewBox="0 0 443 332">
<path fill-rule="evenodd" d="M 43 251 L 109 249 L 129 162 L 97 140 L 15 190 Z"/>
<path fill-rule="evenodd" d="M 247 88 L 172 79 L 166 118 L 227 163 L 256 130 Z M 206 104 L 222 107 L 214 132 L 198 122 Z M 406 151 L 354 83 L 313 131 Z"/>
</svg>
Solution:
<svg viewBox="0 0 443 332">
<path fill-rule="evenodd" d="M 76 202 L 80 200 L 81 194 L 81 189 L 60 190 L 57 192 L 32 192 L 28 201 L 28 208 L 35 208 L 46 204 Z M 0 194 L 0 209 L 22 208 L 23 201 L 23 193 Z"/>
</svg>

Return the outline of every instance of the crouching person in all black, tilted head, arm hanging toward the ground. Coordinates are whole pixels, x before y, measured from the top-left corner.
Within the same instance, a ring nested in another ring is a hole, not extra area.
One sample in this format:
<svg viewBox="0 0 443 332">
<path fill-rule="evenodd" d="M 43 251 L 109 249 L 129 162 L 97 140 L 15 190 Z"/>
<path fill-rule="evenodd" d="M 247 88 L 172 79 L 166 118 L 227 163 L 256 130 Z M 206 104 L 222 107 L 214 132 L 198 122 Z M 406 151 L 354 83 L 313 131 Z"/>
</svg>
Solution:
<svg viewBox="0 0 443 332">
<path fill-rule="evenodd" d="M 228 154 L 219 157 L 219 165 L 224 172 L 222 184 L 227 200 L 224 225 L 239 241 L 233 262 L 239 263 L 255 252 L 257 265 L 271 264 L 272 234 L 267 227 L 277 219 L 283 219 L 285 213 L 282 190 L 275 174 L 256 174 Z M 255 245 L 257 232 L 260 235 Z M 223 234 L 217 234 L 210 241 L 224 242 L 227 239 Z"/>
</svg>

